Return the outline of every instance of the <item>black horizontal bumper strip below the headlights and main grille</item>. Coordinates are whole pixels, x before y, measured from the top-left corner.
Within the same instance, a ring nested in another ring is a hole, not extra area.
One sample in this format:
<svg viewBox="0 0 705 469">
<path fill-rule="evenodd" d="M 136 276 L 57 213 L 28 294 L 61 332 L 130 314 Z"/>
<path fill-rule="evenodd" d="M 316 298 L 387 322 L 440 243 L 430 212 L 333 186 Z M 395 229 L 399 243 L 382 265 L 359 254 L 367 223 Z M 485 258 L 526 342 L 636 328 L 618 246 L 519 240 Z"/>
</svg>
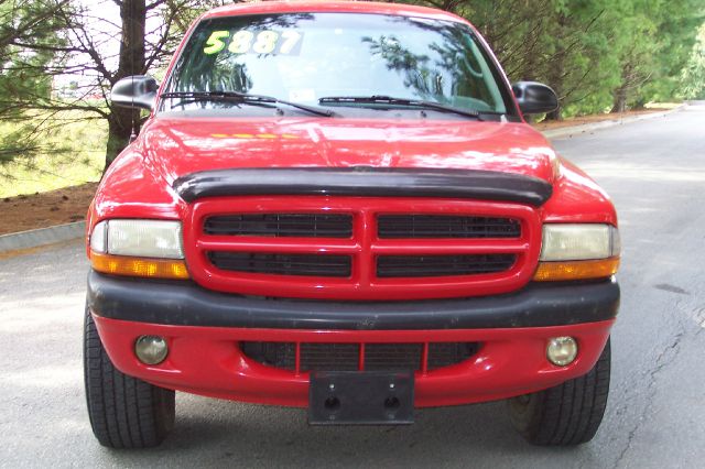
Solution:
<svg viewBox="0 0 705 469">
<path fill-rule="evenodd" d="M 476 329 L 544 327 L 615 317 L 615 280 L 532 283 L 506 295 L 394 303 L 252 298 L 212 292 L 192 282 L 88 274 L 88 306 L 102 317 L 140 323 L 281 329 Z"/>
</svg>

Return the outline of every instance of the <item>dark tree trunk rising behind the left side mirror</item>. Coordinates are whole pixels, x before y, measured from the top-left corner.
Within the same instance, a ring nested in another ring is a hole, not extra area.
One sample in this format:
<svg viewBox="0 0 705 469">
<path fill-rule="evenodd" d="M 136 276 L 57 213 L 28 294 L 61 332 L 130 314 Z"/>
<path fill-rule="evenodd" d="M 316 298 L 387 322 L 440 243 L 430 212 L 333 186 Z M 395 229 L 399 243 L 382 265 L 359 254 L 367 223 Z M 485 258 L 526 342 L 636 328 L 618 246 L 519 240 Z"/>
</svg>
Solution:
<svg viewBox="0 0 705 469">
<path fill-rule="evenodd" d="M 122 21 L 122 41 L 120 42 L 120 58 L 115 81 L 130 75 L 141 75 L 144 69 L 144 22 L 147 20 L 145 0 L 123 0 L 120 6 Z M 115 85 L 115 81 L 111 85 Z M 106 166 L 110 166 L 115 159 L 130 143 L 130 134 L 139 133 L 139 110 L 112 107 L 108 118 L 108 144 L 106 146 Z"/>
</svg>

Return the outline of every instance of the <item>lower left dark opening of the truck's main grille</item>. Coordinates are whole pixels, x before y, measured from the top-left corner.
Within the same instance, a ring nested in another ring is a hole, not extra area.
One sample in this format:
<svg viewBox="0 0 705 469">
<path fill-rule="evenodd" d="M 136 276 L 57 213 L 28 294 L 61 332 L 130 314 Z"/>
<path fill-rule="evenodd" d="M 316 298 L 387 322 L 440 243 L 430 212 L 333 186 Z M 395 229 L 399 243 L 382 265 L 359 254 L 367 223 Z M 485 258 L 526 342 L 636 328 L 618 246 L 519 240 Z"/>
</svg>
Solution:
<svg viewBox="0 0 705 469">
<path fill-rule="evenodd" d="M 347 277 L 351 270 L 349 255 L 210 251 L 208 259 L 216 268 L 232 272 Z"/>
</svg>

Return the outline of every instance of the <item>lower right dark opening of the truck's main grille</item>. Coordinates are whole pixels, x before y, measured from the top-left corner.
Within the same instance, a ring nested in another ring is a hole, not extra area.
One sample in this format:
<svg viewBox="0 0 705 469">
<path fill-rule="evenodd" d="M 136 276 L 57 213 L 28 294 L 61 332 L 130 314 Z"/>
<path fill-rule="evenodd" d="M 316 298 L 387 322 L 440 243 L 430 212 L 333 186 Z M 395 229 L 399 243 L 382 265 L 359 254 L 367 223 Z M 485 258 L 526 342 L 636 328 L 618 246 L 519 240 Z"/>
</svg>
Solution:
<svg viewBox="0 0 705 469">
<path fill-rule="evenodd" d="M 510 269 L 516 260 L 514 254 L 381 255 L 377 260 L 377 276 L 390 279 L 488 274 Z"/>
</svg>

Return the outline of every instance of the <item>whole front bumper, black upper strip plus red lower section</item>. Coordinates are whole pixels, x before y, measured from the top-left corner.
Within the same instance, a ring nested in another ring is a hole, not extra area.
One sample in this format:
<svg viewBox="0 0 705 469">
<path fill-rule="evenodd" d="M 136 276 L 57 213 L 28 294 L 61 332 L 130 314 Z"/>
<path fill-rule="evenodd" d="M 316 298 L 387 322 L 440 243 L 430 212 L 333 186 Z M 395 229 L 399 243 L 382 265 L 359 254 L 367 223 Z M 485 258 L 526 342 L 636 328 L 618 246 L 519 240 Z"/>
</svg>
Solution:
<svg viewBox="0 0 705 469">
<path fill-rule="evenodd" d="M 245 298 L 185 282 L 133 281 L 91 272 L 88 306 L 113 364 L 153 384 L 245 402 L 306 406 L 308 373 L 260 364 L 240 341 L 414 343 L 467 341 L 470 359 L 416 372 L 415 406 L 491 401 L 540 391 L 587 373 L 619 304 L 615 281 L 530 285 L 484 298 L 330 303 Z M 166 338 L 167 359 L 141 363 L 134 340 Z M 577 339 L 578 358 L 555 367 L 550 338 Z"/>
</svg>

